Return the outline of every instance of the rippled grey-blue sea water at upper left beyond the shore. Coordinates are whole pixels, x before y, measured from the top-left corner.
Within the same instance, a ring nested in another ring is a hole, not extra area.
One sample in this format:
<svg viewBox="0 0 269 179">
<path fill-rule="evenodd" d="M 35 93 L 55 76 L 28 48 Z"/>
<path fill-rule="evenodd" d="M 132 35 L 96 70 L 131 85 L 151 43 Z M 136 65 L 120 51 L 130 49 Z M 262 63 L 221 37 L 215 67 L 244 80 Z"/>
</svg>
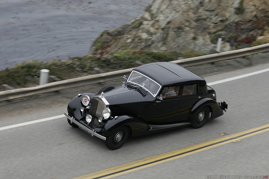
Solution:
<svg viewBox="0 0 269 179">
<path fill-rule="evenodd" d="M 25 60 L 85 56 L 103 30 L 143 13 L 149 0 L 1 0 L 0 70 Z"/>
</svg>

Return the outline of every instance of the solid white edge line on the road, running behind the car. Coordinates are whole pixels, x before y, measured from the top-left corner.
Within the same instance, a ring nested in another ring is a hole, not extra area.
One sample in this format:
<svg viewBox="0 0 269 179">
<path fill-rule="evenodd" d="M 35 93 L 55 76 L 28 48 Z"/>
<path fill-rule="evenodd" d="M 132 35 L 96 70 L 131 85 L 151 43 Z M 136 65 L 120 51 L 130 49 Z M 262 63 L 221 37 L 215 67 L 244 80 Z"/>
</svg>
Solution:
<svg viewBox="0 0 269 179">
<path fill-rule="evenodd" d="M 235 79 L 244 78 L 244 77 L 247 77 L 247 76 L 252 76 L 252 75 L 256 75 L 256 74 L 267 72 L 267 71 L 269 71 L 269 68 L 264 69 L 264 70 L 260 70 L 260 71 L 255 71 L 255 72 L 252 72 L 252 73 L 247 73 L 247 74 L 244 74 L 244 75 L 234 76 L 232 78 L 226 78 L 226 79 L 222 79 L 222 80 L 219 80 L 219 81 L 207 83 L 207 85 L 212 86 L 212 85 L 216 85 L 216 84 L 219 84 L 219 83 L 224 83 L 224 82 L 232 81 L 232 80 L 235 80 Z M 58 119 L 58 118 L 63 118 L 63 117 L 65 117 L 65 115 L 58 115 L 58 116 L 53 116 L 53 117 L 50 117 L 50 118 L 33 120 L 33 121 L 24 122 L 24 123 L 20 123 L 20 124 L 15 124 L 15 125 L 11 125 L 11 126 L 0 127 L 0 130 L 10 129 L 10 128 L 14 128 L 14 127 L 20 127 L 20 126 L 25 126 L 25 125 L 29 125 L 29 124 L 34 124 L 34 123 L 38 123 L 38 122 L 44 122 L 44 121 L 47 121 L 47 120 L 53 120 L 53 119 Z"/>
</svg>

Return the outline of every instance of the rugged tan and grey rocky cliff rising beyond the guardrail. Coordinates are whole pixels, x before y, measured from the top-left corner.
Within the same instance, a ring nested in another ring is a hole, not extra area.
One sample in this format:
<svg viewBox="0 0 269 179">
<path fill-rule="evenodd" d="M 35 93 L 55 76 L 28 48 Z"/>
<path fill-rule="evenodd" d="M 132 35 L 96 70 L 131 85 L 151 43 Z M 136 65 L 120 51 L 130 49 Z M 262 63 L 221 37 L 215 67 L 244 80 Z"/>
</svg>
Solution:
<svg viewBox="0 0 269 179">
<path fill-rule="evenodd" d="M 268 0 L 151 0 L 132 22 L 103 31 L 89 54 L 118 50 L 221 52 L 269 43 Z"/>
</svg>

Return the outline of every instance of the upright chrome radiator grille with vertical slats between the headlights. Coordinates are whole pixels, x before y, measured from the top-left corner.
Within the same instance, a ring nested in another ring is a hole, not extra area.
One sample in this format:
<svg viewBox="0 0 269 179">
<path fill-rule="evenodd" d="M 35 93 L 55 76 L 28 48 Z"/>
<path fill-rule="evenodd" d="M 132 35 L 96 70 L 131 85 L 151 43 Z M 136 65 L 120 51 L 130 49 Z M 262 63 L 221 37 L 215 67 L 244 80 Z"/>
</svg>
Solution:
<svg viewBox="0 0 269 179">
<path fill-rule="evenodd" d="M 107 107 L 107 105 L 104 103 L 102 98 L 95 97 L 95 96 L 91 98 L 89 114 L 93 117 L 93 119 L 89 123 L 89 126 L 95 128 L 101 125 L 102 122 L 99 122 L 98 119 L 99 118 L 103 119 L 102 111 L 105 107 Z"/>
</svg>

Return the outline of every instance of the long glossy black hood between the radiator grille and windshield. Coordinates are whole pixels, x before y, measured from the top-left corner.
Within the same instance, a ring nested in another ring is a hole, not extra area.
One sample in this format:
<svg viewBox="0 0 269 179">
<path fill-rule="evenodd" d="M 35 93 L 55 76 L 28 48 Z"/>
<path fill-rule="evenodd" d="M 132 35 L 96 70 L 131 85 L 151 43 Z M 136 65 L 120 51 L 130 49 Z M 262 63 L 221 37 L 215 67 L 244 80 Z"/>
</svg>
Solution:
<svg viewBox="0 0 269 179">
<path fill-rule="evenodd" d="M 121 86 L 104 93 L 104 98 L 108 101 L 109 105 L 146 101 L 141 93 L 126 86 Z"/>
</svg>

